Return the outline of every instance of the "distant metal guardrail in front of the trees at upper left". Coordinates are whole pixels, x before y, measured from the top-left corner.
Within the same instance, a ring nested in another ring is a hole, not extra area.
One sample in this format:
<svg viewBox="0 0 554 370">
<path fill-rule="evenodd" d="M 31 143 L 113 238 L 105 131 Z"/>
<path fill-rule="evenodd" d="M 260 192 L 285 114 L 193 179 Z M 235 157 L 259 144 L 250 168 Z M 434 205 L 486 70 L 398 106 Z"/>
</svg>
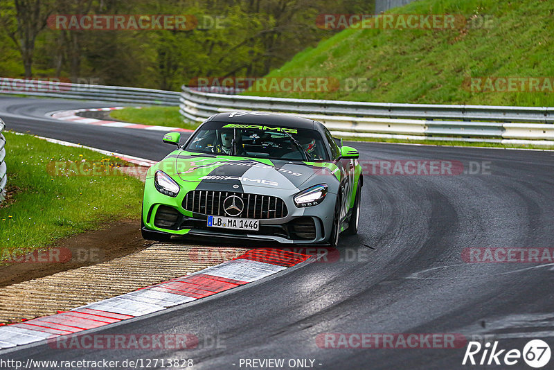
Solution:
<svg viewBox="0 0 554 370">
<path fill-rule="evenodd" d="M 179 93 L 177 91 L 24 80 L 18 78 L 0 78 L 0 94 L 100 100 L 114 103 L 179 105 Z"/>
</svg>

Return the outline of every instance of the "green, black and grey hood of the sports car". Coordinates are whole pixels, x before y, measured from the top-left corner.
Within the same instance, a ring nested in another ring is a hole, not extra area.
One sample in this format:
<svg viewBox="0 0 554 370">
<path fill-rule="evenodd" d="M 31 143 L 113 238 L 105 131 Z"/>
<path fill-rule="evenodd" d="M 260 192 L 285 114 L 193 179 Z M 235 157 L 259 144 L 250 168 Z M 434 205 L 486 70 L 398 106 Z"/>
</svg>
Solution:
<svg viewBox="0 0 554 370">
<path fill-rule="evenodd" d="M 334 166 L 334 165 L 333 165 Z M 249 159 L 244 157 L 200 157 L 182 152 L 175 159 L 175 174 L 183 181 L 298 189 L 318 175 L 329 176 L 332 169 L 321 164 Z M 323 181 L 324 182 L 324 181 Z M 238 186 L 235 186 L 237 188 Z M 219 187 L 219 186 L 217 186 Z"/>
</svg>

